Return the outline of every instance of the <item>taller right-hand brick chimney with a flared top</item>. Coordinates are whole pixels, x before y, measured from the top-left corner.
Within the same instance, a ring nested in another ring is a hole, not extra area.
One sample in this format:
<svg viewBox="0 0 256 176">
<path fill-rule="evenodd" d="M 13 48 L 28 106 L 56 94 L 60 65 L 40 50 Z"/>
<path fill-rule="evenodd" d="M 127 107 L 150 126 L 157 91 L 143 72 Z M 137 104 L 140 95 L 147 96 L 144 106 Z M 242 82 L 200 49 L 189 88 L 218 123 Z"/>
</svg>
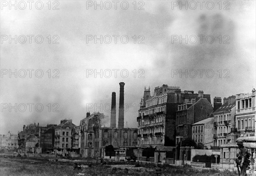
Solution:
<svg viewBox="0 0 256 176">
<path fill-rule="evenodd" d="M 125 83 L 120 82 L 118 128 L 124 128 L 124 87 Z"/>
</svg>

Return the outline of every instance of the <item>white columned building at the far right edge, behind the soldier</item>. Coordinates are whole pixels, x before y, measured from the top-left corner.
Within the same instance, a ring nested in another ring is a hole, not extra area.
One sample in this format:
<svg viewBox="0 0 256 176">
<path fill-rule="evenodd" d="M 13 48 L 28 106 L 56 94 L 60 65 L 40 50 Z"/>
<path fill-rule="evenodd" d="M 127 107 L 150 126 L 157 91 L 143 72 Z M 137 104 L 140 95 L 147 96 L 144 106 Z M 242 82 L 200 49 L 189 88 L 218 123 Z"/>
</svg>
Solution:
<svg viewBox="0 0 256 176">
<path fill-rule="evenodd" d="M 255 89 L 252 93 L 236 95 L 236 129 L 241 137 L 255 136 Z"/>
</svg>

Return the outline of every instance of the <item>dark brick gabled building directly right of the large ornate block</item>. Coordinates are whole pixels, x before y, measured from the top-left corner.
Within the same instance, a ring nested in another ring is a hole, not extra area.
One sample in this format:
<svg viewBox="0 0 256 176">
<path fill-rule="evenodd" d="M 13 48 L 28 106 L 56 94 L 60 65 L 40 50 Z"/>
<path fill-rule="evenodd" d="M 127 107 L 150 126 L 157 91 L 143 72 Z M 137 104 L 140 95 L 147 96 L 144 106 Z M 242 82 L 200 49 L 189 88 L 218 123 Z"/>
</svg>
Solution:
<svg viewBox="0 0 256 176">
<path fill-rule="evenodd" d="M 212 104 L 206 98 L 192 99 L 179 105 L 176 111 L 176 144 L 186 138 L 192 139 L 192 124 L 208 118 L 212 111 Z"/>
</svg>

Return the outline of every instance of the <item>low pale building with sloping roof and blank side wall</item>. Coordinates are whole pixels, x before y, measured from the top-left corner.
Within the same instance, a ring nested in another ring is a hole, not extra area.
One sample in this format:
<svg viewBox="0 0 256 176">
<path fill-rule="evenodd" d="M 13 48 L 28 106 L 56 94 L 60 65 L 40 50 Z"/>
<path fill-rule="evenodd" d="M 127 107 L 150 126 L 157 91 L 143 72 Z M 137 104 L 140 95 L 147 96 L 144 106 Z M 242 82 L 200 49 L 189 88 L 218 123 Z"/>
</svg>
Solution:
<svg viewBox="0 0 256 176">
<path fill-rule="evenodd" d="M 213 117 L 192 124 L 192 139 L 208 149 L 213 145 Z"/>
</svg>

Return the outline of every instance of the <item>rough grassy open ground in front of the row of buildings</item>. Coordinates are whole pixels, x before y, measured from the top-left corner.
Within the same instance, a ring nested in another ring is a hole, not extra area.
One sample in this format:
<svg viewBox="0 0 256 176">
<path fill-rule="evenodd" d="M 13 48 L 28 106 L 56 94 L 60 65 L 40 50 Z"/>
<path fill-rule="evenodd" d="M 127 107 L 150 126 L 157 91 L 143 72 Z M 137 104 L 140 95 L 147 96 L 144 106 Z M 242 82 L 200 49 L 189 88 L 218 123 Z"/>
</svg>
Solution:
<svg viewBox="0 0 256 176">
<path fill-rule="evenodd" d="M 228 170 L 197 169 L 189 165 L 170 166 L 168 164 L 140 163 L 141 167 L 127 162 L 108 162 L 100 165 L 96 159 L 49 161 L 47 157 L 0 157 L 0 176 L 156 176 L 156 167 L 161 167 L 163 173 L 169 176 L 236 176 Z M 81 162 L 82 171 L 73 170 L 73 163 Z M 92 163 L 92 167 L 87 164 Z M 117 167 L 117 173 L 112 173 L 112 167 Z M 129 173 L 123 173 L 128 168 Z"/>
</svg>

